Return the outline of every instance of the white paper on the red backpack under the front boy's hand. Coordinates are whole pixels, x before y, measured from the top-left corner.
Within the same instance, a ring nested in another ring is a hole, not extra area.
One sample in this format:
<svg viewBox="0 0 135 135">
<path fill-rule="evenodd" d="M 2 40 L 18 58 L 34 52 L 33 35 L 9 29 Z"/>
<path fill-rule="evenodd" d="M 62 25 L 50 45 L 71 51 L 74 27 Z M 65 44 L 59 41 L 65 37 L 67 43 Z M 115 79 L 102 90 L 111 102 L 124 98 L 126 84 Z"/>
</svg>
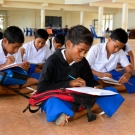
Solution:
<svg viewBox="0 0 135 135">
<path fill-rule="evenodd" d="M 97 95 L 97 96 L 108 96 L 108 95 L 118 94 L 110 90 L 95 89 L 92 87 L 73 87 L 73 88 L 66 88 L 66 89 L 80 92 L 80 93 L 90 94 L 90 95 Z"/>
</svg>

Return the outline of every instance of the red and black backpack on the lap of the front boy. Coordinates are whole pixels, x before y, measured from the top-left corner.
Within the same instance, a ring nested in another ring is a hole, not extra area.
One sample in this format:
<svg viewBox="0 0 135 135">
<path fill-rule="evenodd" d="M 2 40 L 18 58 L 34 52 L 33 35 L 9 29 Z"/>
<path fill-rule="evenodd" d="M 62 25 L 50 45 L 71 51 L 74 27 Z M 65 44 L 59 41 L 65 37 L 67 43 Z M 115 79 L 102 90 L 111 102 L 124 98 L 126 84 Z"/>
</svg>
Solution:
<svg viewBox="0 0 135 135">
<path fill-rule="evenodd" d="M 74 92 L 64 88 L 56 90 L 48 90 L 40 94 L 35 93 L 32 97 L 30 97 L 29 104 L 23 112 L 25 112 L 27 109 L 29 109 L 31 113 L 37 112 L 42 107 L 44 101 L 46 101 L 50 97 L 57 97 L 59 99 L 73 103 L 73 108 L 75 111 L 79 111 L 82 108 L 84 109 L 87 108 L 88 122 L 96 119 L 96 115 L 92 114 L 90 109 L 96 102 L 97 98 L 96 96 Z M 32 110 L 31 106 L 37 106 L 38 108 Z"/>
</svg>

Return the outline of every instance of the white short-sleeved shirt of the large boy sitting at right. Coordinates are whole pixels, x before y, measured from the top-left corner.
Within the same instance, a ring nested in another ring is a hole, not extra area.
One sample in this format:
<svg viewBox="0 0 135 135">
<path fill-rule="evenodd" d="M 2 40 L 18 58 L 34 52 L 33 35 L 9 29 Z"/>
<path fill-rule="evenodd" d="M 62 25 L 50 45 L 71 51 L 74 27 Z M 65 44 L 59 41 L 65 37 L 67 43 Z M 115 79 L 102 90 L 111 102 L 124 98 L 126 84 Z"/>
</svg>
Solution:
<svg viewBox="0 0 135 135">
<path fill-rule="evenodd" d="M 107 59 L 106 43 L 100 43 L 92 46 L 86 56 L 91 68 L 97 72 L 109 72 L 116 69 L 117 63 L 123 67 L 130 65 L 124 51 L 111 54 Z"/>
</svg>

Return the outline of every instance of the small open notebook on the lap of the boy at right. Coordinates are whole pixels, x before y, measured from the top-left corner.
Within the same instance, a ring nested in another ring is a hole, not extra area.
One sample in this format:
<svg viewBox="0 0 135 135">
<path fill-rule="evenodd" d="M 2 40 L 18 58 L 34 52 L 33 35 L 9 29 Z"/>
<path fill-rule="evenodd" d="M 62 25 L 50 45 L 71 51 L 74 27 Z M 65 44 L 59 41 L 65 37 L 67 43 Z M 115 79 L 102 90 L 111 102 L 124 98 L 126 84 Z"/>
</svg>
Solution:
<svg viewBox="0 0 135 135">
<path fill-rule="evenodd" d="M 114 84 L 114 85 L 121 85 L 121 83 L 119 83 L 118 80 L 115 80 L 113 78 L 109 78 L 109 77 L 103 77 L 103 78 L 98 77 L 98 78 L 105 83 Z"/>
</svg>

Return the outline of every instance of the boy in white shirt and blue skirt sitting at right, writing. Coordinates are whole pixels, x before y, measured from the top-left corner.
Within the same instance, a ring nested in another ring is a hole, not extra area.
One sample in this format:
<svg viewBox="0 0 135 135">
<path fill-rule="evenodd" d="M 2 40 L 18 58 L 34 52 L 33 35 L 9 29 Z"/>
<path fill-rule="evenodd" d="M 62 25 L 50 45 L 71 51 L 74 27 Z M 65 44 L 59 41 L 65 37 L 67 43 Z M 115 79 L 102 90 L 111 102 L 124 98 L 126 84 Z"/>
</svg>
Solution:
<svg viewBox="0 0 135 135">
<path fill-rule="evenodd" d="M 110 38 L 108 38 L 107 43 L 100 43 L 92 46 L 86 59 L 95 77 L 110 77 L 119 80 L 121 85 L 114 87 L 118 91 L 127 90 L 128 93 L 132 93 L 135 91 L 135 74 L 122 50 L 127 40 L 127 33 L 121 28 L 116 29 L 112 32 Z M 125 68 L 126 73 L 122 74 L 115 70 L 117 63 L 120 63 L 122 67 Z M 100 84 L 102 83 L 101 85 L 103 87 L 109 85 L 100 80 L 99 82 Z"/>
</svg>

